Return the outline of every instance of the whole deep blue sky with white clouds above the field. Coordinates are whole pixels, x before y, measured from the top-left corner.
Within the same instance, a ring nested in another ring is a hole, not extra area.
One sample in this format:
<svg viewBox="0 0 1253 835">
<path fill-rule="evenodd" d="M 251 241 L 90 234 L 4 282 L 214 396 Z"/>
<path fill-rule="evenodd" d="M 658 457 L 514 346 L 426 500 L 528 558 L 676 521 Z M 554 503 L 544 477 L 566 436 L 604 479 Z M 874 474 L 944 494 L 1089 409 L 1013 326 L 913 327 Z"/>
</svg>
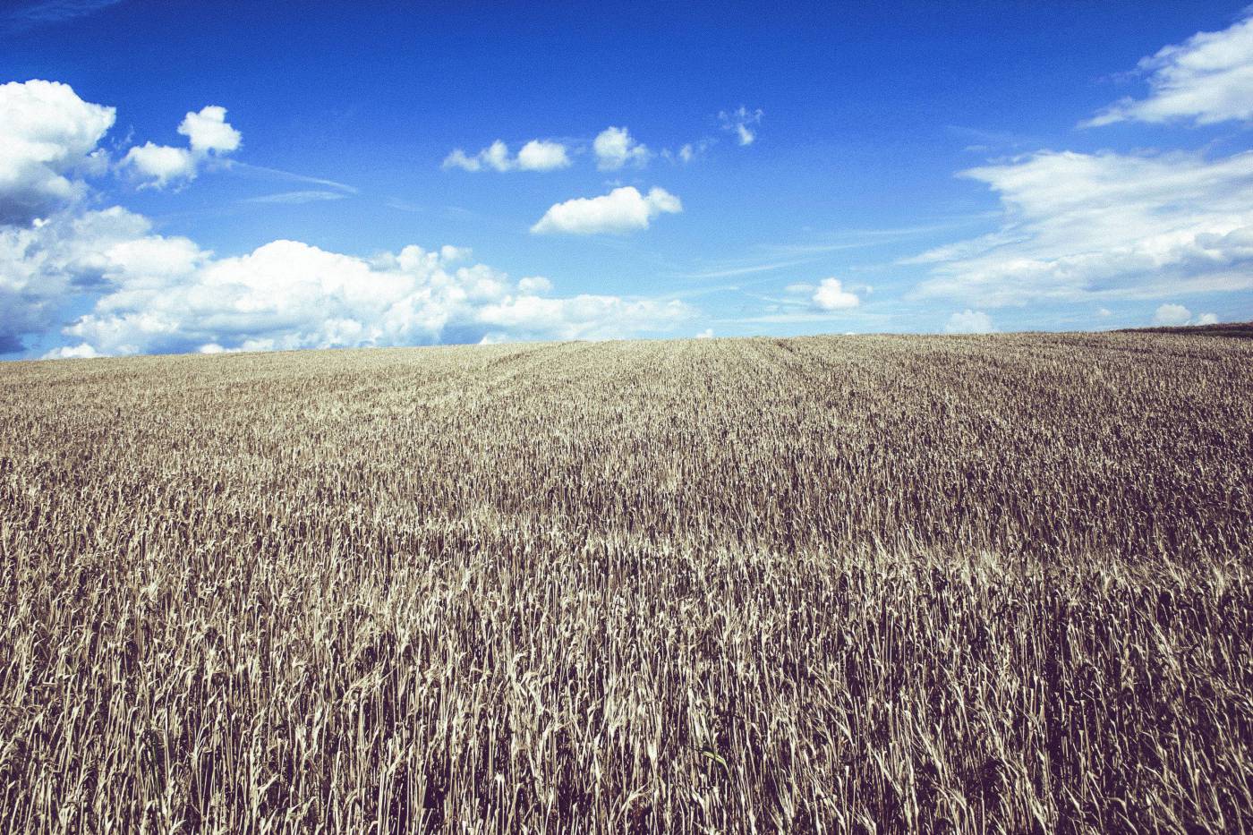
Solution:
<svg viewBox="0 0 1253 835">
<path fill-rule="evenodd" d="M 259 5 L 0 11 L 6 359 L 1253 318 L 1239 5 Z"/>
</svg>

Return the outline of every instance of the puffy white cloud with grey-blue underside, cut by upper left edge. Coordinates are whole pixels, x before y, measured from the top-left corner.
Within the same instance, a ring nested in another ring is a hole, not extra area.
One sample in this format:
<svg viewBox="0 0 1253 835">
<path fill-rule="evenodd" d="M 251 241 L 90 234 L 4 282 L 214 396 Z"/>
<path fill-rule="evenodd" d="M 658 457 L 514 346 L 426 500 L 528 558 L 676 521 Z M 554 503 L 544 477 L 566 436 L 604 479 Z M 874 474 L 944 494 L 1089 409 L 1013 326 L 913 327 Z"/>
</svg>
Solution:
<svg viewBox="0 0 1253 835">
<path fill-rule="evenodd" d="M 99 168 L 114 115 L 68 84 L 0 84 L 0 223 L 28 223 L 85 193 L 76 176 Z"/>
</svg>

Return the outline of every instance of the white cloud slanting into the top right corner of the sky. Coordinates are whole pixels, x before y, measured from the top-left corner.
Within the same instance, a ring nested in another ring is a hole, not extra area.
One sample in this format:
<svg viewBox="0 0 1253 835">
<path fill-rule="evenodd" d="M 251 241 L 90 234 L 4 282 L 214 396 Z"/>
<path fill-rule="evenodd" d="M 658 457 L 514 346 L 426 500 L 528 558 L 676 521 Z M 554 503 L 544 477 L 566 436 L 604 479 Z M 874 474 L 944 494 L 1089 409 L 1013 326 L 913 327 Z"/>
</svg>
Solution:
<svg viewBox="0 0 1253 835">
<path fill-rule="evenodd" d="M 1115 122 L 1195 124 L 1253 119 L 1253 8 L 1222 31 L 1197 33 L 1182 44 L 1163 46 L 1140 60 L 1149 95 L 1124 98 L 1084 127 Z"/>
</svg>

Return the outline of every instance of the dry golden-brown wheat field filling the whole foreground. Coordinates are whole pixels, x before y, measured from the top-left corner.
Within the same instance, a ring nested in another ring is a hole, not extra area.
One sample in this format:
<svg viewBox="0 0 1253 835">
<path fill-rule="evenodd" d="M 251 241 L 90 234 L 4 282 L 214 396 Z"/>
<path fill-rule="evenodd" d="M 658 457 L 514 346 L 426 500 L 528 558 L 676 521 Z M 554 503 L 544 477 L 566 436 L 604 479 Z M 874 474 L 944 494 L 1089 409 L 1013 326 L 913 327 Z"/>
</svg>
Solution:
<svg viewBox="0 0 1253 835">
<path fill-rule="evenodd" d="M 1253 342 L 0 365 L 0 829 L 1253 829 Z"/>
</svg>

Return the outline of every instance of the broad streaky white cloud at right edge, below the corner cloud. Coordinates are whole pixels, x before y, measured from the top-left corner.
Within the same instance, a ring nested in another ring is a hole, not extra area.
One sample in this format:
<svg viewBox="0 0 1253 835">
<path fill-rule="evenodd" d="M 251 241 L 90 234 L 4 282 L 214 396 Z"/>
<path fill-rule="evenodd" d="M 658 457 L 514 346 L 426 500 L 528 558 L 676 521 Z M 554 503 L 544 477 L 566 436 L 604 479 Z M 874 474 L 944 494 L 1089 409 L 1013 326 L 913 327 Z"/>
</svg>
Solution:
<svg viewBox="0 0 1253 835">
<path fill-rule="evenodd" d="M 1004 307 L 1253 287 L 1253 152 L 1039 152 L 964 176 L 997 194 L 1001 228 L 912 258 L 932 265 L 920 298 Z"/>
</svg>

